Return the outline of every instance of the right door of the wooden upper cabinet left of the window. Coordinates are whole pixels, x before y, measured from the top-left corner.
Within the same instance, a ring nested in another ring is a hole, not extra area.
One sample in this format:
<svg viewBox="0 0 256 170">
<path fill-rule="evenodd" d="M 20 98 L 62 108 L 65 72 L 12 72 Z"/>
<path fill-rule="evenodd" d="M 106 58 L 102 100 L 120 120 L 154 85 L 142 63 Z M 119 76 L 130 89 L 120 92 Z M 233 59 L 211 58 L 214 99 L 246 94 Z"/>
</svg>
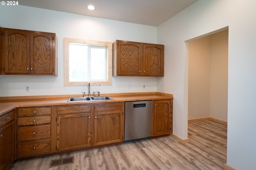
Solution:
<svg viewBox="0 0 256 170">
<path fill-rule="evenodd" d="M 30 32 L 30 73 L 53 74 L 55 56 L 54 34 Z"/>
</svg>

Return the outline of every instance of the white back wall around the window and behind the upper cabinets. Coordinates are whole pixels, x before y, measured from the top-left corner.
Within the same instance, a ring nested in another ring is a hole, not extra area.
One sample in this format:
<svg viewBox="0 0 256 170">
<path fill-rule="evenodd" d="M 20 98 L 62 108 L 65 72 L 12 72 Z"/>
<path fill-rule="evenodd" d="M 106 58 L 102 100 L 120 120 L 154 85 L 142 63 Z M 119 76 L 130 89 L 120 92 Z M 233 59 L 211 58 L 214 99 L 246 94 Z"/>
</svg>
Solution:
<svg viewBox="0 0 256 170">
<path fill-rule="evenodd" d="M 0 75 L 0 97 L 82 94 L 87 86 L 64 86 L 64 37 L 114 42 L 156 43 L 156 27 L 27 6 L 0 6 L 0 27 L 53 32 L 58 37 L 58 76 Z M 131 89 L 128 89 L 131 84 Z M 146 89 L 142 89 L 142 84 Z M 30 85 L 30 92 L 25 86 Z M 91 86 L 101 93 L 156 91 L 156 77 L 113 77 L 112 86 Z"/>
</svg>

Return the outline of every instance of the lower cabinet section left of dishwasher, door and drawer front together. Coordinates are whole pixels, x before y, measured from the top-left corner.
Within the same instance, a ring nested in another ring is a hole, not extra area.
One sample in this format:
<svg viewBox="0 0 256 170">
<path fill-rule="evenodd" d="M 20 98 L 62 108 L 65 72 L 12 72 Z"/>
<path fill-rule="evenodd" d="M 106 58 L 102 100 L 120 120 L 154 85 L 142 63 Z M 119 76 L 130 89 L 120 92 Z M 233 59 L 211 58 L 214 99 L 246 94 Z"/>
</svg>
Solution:
<svg viewBox="0 0 256 170">
<path fill-rule="evenodd" d="M 124 102 L 94 105 L 94 145 L 124 141 Z"/>
</svg>

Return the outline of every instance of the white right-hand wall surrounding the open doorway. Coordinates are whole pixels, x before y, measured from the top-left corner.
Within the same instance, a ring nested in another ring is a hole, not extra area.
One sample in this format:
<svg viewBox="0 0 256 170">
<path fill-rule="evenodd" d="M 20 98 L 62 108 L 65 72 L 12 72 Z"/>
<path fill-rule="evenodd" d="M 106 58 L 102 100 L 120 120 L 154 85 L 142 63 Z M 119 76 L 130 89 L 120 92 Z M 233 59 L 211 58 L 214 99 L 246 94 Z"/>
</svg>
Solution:
<svg viewBox="0 0 256 170">
<path fill-rule="evenodd" d="M 188 43 L 228 26 L 227 164 L 255 169 L 256 1 L 198 0 L 157 28 L 165 45 L 165 77 L 157 91 L 174 94 L 173 132 L 187 138 Z M 168 66 L 168 67 L 167 67 Z"/>
</svg>

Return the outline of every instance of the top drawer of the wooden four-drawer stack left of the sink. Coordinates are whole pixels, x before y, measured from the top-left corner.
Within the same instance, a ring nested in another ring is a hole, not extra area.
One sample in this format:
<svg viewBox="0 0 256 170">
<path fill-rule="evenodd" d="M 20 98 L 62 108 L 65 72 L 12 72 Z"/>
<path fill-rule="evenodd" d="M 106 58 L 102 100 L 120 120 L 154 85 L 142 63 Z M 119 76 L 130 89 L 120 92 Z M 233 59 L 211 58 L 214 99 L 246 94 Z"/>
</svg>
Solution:
<svg viewBox="0 0 256 170">
<path fill-rule="evenodd" d="M 50 115 L 52 112 L 51 107 L 30 107 L 19 108 L 18 116 L 35 116 L 35 115 Z"/>
</svg>

